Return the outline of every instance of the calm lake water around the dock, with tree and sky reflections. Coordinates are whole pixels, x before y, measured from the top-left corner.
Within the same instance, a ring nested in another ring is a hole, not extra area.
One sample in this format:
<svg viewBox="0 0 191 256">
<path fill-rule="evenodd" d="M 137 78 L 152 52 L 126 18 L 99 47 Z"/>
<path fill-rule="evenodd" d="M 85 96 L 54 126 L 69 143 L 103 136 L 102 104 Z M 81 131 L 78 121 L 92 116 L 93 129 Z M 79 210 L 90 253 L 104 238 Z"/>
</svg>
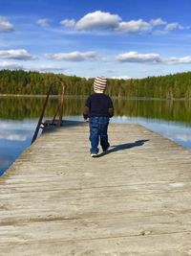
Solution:
<svg viewBox="0 0 191 256">
<path fill-rule="evenodd" d="M 30 146 L 45 99 L 0 98 L 0 175 Z M 65 99 L 64 119 L 82 121 L 84 99 Z M 138 123 L 191 149 L 191 101 L 114 100 L 113 123 Z M 52 119 L 51 100 L 45 119 Z"/>
</svg>

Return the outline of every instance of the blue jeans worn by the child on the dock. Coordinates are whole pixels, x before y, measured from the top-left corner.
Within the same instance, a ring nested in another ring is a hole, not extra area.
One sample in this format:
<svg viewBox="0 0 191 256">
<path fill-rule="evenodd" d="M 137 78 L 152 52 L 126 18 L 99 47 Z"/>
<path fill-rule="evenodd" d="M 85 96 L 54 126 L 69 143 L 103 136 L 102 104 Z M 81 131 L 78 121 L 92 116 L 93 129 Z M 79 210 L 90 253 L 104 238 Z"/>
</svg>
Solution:
<svg viewBox="0 0 191 256">
<path fill-rule="evenodd" d="M 90 117 L 90 142 L 91 153 L 98 152 L 98 143 L 100 138 L 100 145 L 103 151 L 108 148 L 108 134 L 107 129 L 109 125 L 109 117 Z"/>
</svg>

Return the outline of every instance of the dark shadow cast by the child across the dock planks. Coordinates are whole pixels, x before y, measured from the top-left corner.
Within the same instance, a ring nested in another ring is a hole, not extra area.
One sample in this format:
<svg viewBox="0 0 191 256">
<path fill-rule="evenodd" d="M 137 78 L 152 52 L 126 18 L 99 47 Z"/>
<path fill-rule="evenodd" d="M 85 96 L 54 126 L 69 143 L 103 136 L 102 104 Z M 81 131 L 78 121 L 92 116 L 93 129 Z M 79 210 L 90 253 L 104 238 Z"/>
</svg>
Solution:
<svg viewBox="0 0 191 256">
<path fill-rule="evenodd" d="M 143 146 L 144 143 L 147 142 L 147 141 L 149 141 L 149 140 L 148 139 L 138 140 L 138 141 L 135 141 L 133 143 L 125 143 L 125 144 L 114 145 L 114 146 L 111 146 L 111 148 L 108 151 L 100 153 L 97 157 L 104 156 L 104 155 L 106 155 L 108 153 L 111 153 L 111 152 L 124 151 L 124 150 L 129 150 L 129 149 L 134 148 L 134 147 L 140 147 L 140 146 Z"/>
</svg>

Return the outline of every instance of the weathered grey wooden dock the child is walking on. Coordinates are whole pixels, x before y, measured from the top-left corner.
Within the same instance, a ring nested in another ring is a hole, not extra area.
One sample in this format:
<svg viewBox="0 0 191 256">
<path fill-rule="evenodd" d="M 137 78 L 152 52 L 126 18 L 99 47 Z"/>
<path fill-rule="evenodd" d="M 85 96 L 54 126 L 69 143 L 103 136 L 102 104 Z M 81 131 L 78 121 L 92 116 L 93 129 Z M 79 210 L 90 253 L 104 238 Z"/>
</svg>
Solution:
<svg viewBox="0 0 191 256">
<path fill-rule="evenodd" d="M 110 124 L 110 150 L 66 122 L 0 177 L 1 256 L 191 255 L 191 151 Z"/>
</svg>

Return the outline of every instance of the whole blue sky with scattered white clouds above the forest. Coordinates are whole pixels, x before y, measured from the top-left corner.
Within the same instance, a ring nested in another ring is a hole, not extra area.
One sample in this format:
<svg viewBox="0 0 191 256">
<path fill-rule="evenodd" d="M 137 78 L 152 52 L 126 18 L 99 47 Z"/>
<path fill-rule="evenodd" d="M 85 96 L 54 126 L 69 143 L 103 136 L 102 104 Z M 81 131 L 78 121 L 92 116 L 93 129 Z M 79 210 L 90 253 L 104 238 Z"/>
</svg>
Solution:
<svg viewBox="0 0 191 256">
<path fill-rule="evenodd" d="M 191 70 L 190 0 L 0 0 L 0 69 L 129 79 Z"/>
</svg>

